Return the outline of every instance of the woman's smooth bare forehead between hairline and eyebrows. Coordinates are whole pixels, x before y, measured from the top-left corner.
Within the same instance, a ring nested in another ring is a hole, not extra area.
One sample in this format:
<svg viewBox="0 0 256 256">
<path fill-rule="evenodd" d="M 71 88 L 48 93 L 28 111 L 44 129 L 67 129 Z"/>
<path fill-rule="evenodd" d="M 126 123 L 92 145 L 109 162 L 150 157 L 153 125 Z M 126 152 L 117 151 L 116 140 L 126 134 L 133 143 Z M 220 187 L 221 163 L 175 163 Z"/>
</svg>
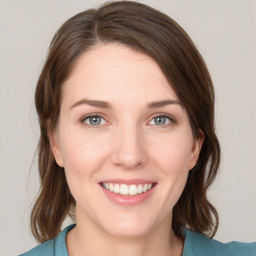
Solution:
<svg viewBox="0 0 256 256">
<path fill-rule="evenodd" d="M 121 44 L 98 45 L 83 52 L 63 85 L 62 100 L 153 101 L 177 96 L 158 64 Z"/>
</svg>

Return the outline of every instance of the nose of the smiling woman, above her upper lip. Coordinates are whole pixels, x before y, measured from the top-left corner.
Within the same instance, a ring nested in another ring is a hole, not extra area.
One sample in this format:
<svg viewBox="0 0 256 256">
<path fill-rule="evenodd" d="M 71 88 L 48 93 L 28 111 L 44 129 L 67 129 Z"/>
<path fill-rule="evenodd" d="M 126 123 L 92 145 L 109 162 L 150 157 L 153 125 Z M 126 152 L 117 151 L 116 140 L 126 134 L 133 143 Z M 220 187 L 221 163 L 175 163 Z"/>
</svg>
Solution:
<svg viewBox="0 0 256 256">
<path fill-rule="evenodd" d="M 137 127 L 120 128 L 113 136 L 111 159 L 114 165 L 131 170 L 146 164 L 146 143 Z"/>
</svg>

